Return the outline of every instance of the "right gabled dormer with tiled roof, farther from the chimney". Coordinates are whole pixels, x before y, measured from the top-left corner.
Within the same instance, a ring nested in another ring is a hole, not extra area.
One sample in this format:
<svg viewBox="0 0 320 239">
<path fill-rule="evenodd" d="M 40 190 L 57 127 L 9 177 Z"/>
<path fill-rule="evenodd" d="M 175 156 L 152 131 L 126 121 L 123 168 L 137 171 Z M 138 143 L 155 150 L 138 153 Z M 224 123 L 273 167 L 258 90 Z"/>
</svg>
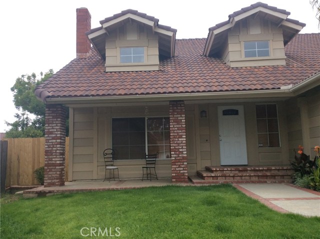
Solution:
<svg viewBox="0 0 320 239">
<path fill-rule="evenodd" d="M 305 26 L 289 14 L 261 2 L 233 12 L 209 28 L 203 54 L 231 67 L 285 65 L 284 46 Z"/>
</svg>

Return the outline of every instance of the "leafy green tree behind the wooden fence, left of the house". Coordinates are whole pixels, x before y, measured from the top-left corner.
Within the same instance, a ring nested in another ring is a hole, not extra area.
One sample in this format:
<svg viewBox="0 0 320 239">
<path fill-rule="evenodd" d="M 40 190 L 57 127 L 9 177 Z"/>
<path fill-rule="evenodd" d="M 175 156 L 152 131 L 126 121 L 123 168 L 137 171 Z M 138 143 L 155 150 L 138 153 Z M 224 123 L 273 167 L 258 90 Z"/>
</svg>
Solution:
<svg viewBox="0 0 320 239">
<path fill-rule="evenodd" d="M 14 85 L 10 88 L 13 92 L 13 103 L 19 113 L 14 117 L 16 120 L 12 123 L 5 122 L 10 126 L 6 131 L 6 137 L 42 137 L 44 136 L 44 116 L 45 104 L 38 100 L 33 91 L 35 87 L 49 78 L 53 74 L 49 69 L 44 74 L 40 72 L 40 79 L 35 73 L 30 75 L 21 75 L 16 78 Z"/>
</svg>

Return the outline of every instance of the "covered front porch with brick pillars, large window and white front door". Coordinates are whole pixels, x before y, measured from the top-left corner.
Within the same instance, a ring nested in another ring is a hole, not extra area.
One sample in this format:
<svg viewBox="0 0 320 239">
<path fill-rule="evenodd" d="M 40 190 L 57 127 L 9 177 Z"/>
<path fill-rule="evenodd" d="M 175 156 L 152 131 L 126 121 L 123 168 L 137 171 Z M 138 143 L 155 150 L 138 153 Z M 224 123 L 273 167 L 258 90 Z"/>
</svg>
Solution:
<svg viewBox="0 0 320 239">
<path fill-rule="evenodd" d="M 297 112 L 305 108 L 299 109 L 292 104 L 296 101 L 253 98 L 242 101 L 212 99 L 65 104 L 69 107 L 68 178 L 64 178 L 62 159 L 65 112 L 61 104 L 47 104 L 45 186 L 63 185 L 64 181 L 103 179 L 102 152 L 109 147 L 117 149 L 114 164 L 119 167 L 122 179 L 140 179 L 141 167 L 145 163 L 144 153 L 159 152 L 157 175 L 170 178 L 173 183 L 188 183 L 188 179 L 194 182 L 196 176 L 202 177 L 201 180 L 218 180 L 218 183 L 237 179 L 290 181 L 288 160 L 293 157 L 295 144 L 304 142 L 301 134 L 304 131 L 298 129 L 302 121 L 308 120 L 307 117 L 300 118 Z M 308 100 L 303 102 L 307 104 Z M 264 116 L 266 114 L 269 116 Z M 139 119 L 144 123 L 144 129 L 133 130 L 134 136 L 126 143 L 122 143 L 122 136 L 130 138 L 132 130 L 118 130 L 123 119 L 128 119 L 127 122 Z M 157 125 L 157 120 L 164 122 L 163 125 Z M 118 127 L 114 127 L 116 123 Z M 62 126 L 59 128 L 57 125 Z M 233 142 L 227 138 L 230 132 L 235 135 L 231 138 Z M 142 136 L 137 137 L 139 134 Z M 229 171 L 220 171 L 222 175 L 206 172 L 208 167 L 221 166 L 233 169 L 250 167 L 247 170 L 256 167 L 257 170 L 262 169 L 262 174 L 250 175 L 253 170 L 250 173 L 242 171 L 244 174 L 239 178 Z M 287 172 L 270 172 L 268 167 L 282 167 Z"/>
</svg>

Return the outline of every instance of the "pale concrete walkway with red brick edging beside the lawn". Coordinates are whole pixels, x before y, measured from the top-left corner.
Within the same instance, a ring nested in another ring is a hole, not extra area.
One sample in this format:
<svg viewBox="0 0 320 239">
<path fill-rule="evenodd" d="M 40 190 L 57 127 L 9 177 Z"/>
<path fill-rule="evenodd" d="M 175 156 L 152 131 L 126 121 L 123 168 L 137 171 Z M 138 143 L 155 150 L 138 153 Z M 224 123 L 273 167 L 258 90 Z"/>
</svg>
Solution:
<svg viewBox="0 0 320 239">
<path fill-rule="evenodd" d="M 289 183 L 233 184 L 246 195 L 279 212 L 320 216 L 320 192 L 296 187 Z"/>
</svg>

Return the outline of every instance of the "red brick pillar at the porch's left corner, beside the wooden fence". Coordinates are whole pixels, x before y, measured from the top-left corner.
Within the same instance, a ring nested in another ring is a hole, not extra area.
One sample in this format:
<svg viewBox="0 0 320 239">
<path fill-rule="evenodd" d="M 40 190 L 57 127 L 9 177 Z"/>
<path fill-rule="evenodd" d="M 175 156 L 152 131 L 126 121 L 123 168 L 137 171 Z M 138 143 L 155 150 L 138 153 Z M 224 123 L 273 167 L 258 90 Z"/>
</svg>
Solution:
<svg viewBox="0 0 320 239">
<path fill-rule="evenodd" d="M 45 107 L 45 187 L 64 185 L 65 114 L 65 108 L 60 104 Z"/>
</svg>

